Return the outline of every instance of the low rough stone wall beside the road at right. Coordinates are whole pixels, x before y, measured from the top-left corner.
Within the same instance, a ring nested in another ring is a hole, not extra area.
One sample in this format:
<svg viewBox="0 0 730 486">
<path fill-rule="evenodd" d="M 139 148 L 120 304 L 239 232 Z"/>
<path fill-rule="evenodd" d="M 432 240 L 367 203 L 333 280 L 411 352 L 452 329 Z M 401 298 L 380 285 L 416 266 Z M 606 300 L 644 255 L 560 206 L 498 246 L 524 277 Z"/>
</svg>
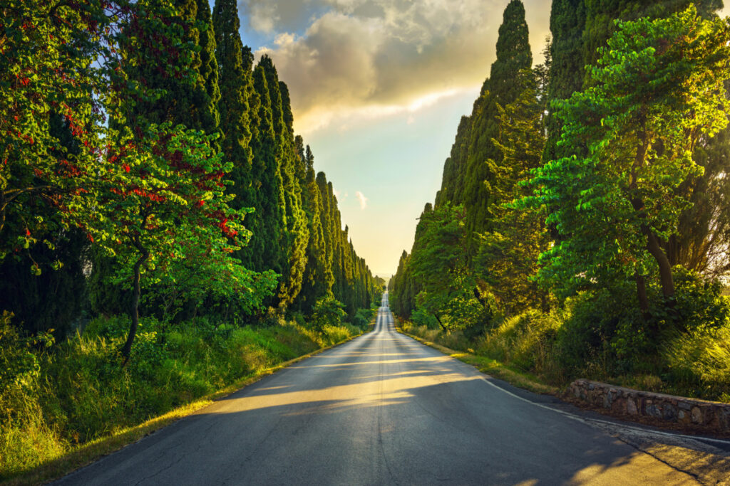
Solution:
<svg viewBox="0 0 730 486">
<path fill-rule="evenodd" d="M 591 380 L 575 380 L 568 393 L 617 414 L 653 418 L 720 433 L 730 433 L 730 404 L 637 391 Z"/>
</svg>

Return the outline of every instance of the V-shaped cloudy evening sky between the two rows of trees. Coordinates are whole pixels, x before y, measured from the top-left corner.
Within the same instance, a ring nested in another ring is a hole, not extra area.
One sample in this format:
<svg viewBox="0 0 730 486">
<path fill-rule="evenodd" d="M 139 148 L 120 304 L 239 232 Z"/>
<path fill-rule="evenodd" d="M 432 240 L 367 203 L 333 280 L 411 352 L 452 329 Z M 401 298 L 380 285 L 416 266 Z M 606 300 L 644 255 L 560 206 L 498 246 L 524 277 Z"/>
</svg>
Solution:
<svg viewBox="0 0 730 486">
<path fill-rule="evenodd" d="M 211 2 L 212 3 L 212 2 Z M 495 59 L 509 0 L 241 0 L 240 34 L 291 93 L 294 131 L 332 182 L 372 273 L 395 273 Z M 534 64 L 550 1 L 523 0 Z M 730 8 L 722 15 L 730 15 Z"/>
</svg>

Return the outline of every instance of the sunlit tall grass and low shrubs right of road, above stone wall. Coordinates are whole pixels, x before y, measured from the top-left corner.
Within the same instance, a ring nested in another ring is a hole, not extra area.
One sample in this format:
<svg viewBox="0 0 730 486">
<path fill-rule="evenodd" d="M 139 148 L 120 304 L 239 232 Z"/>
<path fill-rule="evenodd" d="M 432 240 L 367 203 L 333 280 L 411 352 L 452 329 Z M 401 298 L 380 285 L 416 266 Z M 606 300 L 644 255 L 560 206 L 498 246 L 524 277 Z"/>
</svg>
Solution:
<svg viewBox="0 0 730 486">
<path fill-rule="evenodd" d="M 653 353 L 626 353 L 619 327 L 612 343 L 602 332 L 594 302 L 576 299 L 561 310 L 528 310 L 507 318 L 475 340 L 404 322 L 402 329 L 453 350 L 468 351 L 564 387 L 578 377 L 645 391 L 730 402 L 730 325 L 696 326 L 664 335 Z M 583 307 L 588 307 L 586 310 Z M 618 341 L 621 346 L 614 343 Z M 582 343 L 582 344 L 581 344 Z"/>
</svg>

